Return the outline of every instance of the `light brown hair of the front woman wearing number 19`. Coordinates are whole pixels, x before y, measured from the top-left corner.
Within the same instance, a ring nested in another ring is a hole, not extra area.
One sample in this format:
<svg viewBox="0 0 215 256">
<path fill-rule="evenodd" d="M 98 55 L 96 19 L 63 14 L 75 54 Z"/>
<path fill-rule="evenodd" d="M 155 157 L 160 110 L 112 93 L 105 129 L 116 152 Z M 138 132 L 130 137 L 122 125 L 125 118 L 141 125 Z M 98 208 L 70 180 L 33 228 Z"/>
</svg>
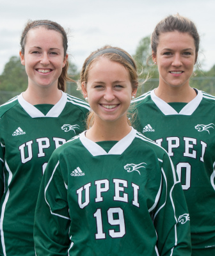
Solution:
<svg viewBox="0 0 215 256">
<path fill-rule="evenodd" d="M 99 56 L 95 55 L 95 54 L 97 54 L 97 52 L 100 52 L 104 49 L 110 49 L 110 52 L 106 52 L 104 54 L 99 54 Z M 115 52 L 111 52 L 111 49 L 115 49 L 120 52 L 123 52 L 123 54 L 125 54 L 127 56 L 127 58 L 125 59 L 125 58 L 123 58 L 122 55 L 116 54 Z M 95 55 L 95 58 L 92 58 L 93 55 Z M 131 55 L 121 48 L 112 47 L 110 45 L 105 45 L 104 47 L 98 49 L 97 51 L 92 52 L 92 54 L 90 54 L 90 56 L 88 56 L 88 58 L 86 58 L 86 60 L 84 61 L 83 68 L 80 73 L 80 80 L 78 82 L 79 90 L 81 90 L 81 83 L 84 82 L 85 84 L 87 84 L 88 72 L 89 72 L 90 68 L 92 67 L 93 63 L 95 63 L 95 61 L 98 61 L 99 58 L 108 58 L 108 60 L 116 61 L 116 62 L 122 64 L 123 67 L 125 67 L 129 71 L 132 89 L 135 90 L 138 88 L 137 67 L 136 67 L 136 63 L 133 60 L 133 58 L 131 57 Z M 90 60 L 90 59 L 92 59 L 92 60 Z M 90 62 L 89 62 L 89 60 L 90 60 Z M 129 125 L 131 125 L 131 122 L 129 121 L 128 118 L 127 118 L 127 122 Z M 87 127 L 88 128 L 92 127 L 93 123 L 94 123 L 94 113 L 93 113 L 93 111 L 91 111 L 87 118 L 87 122 L 86 122 Z"/>
</svg>

